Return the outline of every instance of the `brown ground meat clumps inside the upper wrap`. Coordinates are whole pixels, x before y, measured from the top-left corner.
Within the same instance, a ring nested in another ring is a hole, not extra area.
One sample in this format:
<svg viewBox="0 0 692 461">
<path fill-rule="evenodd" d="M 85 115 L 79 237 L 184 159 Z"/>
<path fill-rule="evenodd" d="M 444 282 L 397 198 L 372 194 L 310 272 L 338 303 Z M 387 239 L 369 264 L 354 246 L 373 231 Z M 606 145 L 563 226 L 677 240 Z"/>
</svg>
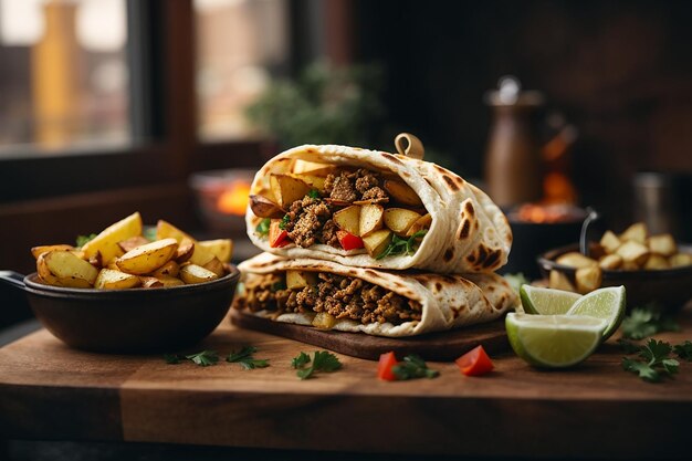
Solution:
<svg viewBox="0 0 692 461">
<path fill-rule="evenodd" d="M 339 203 L 352 203 L 358 200 L 370 200 L 374 203 L 387 203 L 389 196 L 379 187 L 379 175 L 360 168 L 356 171 L 331 174 L 324 182 L 325 197 Z M 304 197 L 294 201 L 286 213 L 285 230 L 289 238 L 298 247 L 308 248 L 319 242 L 340 248 L 336 231 L 338 228 L 332 220 L 337 211 L 333 205 L 319 198 Z"/>
</svg>

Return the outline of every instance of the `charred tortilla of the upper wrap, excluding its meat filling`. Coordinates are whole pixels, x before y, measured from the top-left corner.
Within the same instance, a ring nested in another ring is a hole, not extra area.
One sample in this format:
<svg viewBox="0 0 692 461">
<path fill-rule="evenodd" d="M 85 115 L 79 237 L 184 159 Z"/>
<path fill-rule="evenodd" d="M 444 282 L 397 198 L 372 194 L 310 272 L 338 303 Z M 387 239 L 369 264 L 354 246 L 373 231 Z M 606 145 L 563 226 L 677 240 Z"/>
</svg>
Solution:
<svg viewBox="0 0 692 461">
<path fill-rule="evenodd" d="M 506 263 L 512 244 L 512 231 L 503 212 L 480 189 L 432 163 L 398 154 L 346 146 L 305 145 L 280 154 L 265 164 L 254 178 L 251 195 L 269 197 L 269 200 L 272 200 L 274 196 L 270 184 L 271 176 L 298 178 L 301 175 L 310 176 L 313 175 L 310 168 L 314 169 L 315 164 L 317 167 L 325 167 L 322 168 L 323 171 L 328 168 L 336 169 L 336 175 L 339 169 L 363 168 L 374 171 L 380 178 L 395 178 L 396 182 L 408 186 L 420 199 L 418 211 L 428 213 L 431 218 L 420 233 L 422 238 L 416 240 L 407 251 L 388 255 L 381 249 L 378 249 L 377 254 L 368 254 L 365 249 L 345 250 L 345 247 L 339 245 L 340 240 L 335 243 L 335 239 L 331 240 L 331 244 L 325 244 L 325 238 L 313 239 L 314 243 L 313 240 L 308 240 L 308 244 L 304 242 L 296 244 L 285 240 L 274 245 L 266 232 L 258 231 L 261 229 L 263 218 L 255 216 L 249 207 L 245 214 L 248 234 L 256 247 L 291 259 L 314 258 L 348 266 L 385 270 L 420 269 L 437 273 L 493 272 Z M 313 178 L 324 184 L 324 178 Z M 339 205 L 350 205 L 339 200 L 329 201 L 331 198 L 334 198 L 334 193 L 326 197 L 326 200 L 324 197 L 318 199 L 328 203 L 331 209 L 335 202 L 337 208 Z M 374 198 L 374 202 L 377 203 L 378 196 L 370 195 L 369 191 L 357 200 L 363 202 L 368 198 Z M 382 203 L 384 208 L 399 206 L 396 199 L 388 200 Z M 289 211 L 289 205 L 282 206 L 283 209 L 277 217 L 282 216 L 281 212 Z M 324 221 L 327 218 L 319 219 Z M 269 224 L 265 224 L 269 228 Z M 285 222 L 281 224 L 285 226 Z M 399 250 L 401 248 L 403 247 Z"/>
</svg>

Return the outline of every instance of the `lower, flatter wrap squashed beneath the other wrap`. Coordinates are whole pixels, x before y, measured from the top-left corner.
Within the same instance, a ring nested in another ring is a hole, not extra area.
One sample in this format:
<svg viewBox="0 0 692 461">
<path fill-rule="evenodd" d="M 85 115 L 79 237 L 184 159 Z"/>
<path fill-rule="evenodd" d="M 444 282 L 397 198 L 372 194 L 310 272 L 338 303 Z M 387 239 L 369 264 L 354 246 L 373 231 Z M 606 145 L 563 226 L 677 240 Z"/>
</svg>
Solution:
<svg viewBox="0 0 692 461">
<path fill-rule="evenodd" d="M 239 269 L 243 290 L 234 308 L 277 322 L 377 336 L 490 322 L 517 303 L 512 287 L 494 273 L 394 273 L 270 253 Z"/>
</svg>

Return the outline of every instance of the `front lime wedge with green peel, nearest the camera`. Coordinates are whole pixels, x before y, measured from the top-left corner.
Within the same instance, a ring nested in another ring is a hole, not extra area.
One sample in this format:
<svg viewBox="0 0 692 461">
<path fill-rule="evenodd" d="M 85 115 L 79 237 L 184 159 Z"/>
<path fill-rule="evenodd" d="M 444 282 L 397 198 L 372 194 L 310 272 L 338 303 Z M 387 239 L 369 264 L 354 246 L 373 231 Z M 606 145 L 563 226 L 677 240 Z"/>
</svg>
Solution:
<svg viewBox="0 0 692 461">
<path fill-rule="evenodd" d="M 524 360 L 545 368 L 566 368 L 596 350 L 607 323 L 586 315 L 510 313 L 505 326 L 512 348 Z"/>
</svg>

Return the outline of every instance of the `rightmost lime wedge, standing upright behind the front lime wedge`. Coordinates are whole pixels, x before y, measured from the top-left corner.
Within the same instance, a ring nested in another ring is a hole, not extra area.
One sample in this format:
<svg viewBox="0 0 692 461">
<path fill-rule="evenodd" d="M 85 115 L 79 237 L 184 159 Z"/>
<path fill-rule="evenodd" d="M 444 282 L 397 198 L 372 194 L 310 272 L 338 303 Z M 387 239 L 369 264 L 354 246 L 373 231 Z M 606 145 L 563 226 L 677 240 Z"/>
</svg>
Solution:
<svg viewBox="0 0 692 461">
<path fill-rule="evenodd" d="M 625 286 L 595 290 L 574 303 L 567 315 L 590 315 L 606 321 L 606 340 L 618 329 L 625 317 Z"/>
</svg>

